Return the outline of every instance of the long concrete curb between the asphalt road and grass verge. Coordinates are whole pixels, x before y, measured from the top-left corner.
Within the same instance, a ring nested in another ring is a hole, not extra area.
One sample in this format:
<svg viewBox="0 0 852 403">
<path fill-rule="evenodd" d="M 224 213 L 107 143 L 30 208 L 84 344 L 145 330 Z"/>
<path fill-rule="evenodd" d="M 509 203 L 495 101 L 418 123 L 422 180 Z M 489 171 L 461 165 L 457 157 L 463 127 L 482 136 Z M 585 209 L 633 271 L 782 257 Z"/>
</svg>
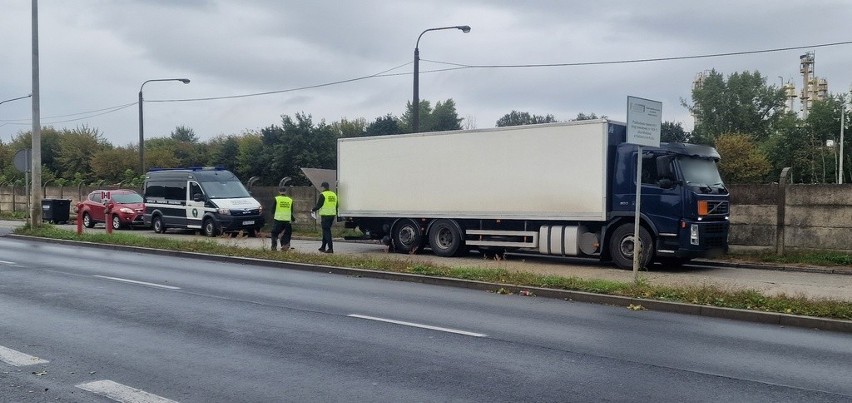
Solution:
<svg viewBox="0 0 852 403">
<path fill-rule="evenodd" d="M 755 322 L 774 324 L 779 326 L 790 326 L 800 328 L 810 328 L 817 330 L 827 330 L 835 332 L 852 333 L 852 321 L 818 318 L 813 316 L 797 316 L 776 312 L 761 312 L 750 311 L 745 309 L 714 307 L 709 305 L 694 305 L 682 302 L 669 302 L 661 300 L 650 300 L 633 297 L 622 297 L 616 295 L 595 294 L 583 291 L 559 290 L 554 288 L 542 287 L 527 287 L 513 284 L 489 283 L 484 281 L 463 280 L 448 277 L 426 276 L 410 273 L 395 273 L 379 270 L 366 270 L 350 267 L 327 266 L 309 263 L 297 262 L 281 262 L 276 260 L 266 260 L 239 256 L 224 256 L 224 255 L 208 255 L 200 252 L 185 252 L 172 251 L 165 249 L 144 248 L 140 246 L 127 245 L 107 245 L 87 241 L 74 241 L 66 239 L 41 238 L 27 235 L 9 234 L 7 237 L 28 239 L 38 242 L 58 243 L 58 244 L 85 244 L 87 246 L 102 248 L 102 249 L 122 249 L 140 253 L 151 253 L 164 256 L 188 257 L 194 259 L 204 259 L 217 262 L 227 263 L 251 263 L 259 266 L 287 268 L 291 270 L 300 270 L 316 273 L 331 273 L 342 274 L 354 277 L 366 277 L 383 280 L 406 281 L 421 284 L 449 286 L 456 288 L 467 288 L 472 290 L 500 292 L 505 290 L 508 293 L 516 295 L 538 296 L 543 298 L 562 299 L 565 301 L 586 302 L 601 305 L 622 306 L 622 307 L 639 307 L 638 309 L 648 309 L 659 312 L 672 312 L 687 315 L 705 316 L 711 318 L 730 319 L 744 322 Z"/>
</svg>

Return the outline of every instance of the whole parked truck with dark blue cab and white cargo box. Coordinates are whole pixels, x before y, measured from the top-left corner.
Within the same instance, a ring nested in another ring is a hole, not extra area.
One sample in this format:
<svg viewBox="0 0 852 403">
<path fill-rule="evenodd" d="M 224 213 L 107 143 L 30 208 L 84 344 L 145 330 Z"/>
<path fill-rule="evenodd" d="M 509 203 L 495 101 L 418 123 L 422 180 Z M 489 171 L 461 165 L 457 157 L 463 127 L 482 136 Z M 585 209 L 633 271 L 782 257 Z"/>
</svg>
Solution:
<svg viewBox="0 0 852 403">
<path fill-rule="evenodd" d="M 339 217 L 400 253 L 531 252 L 633 266 L 639 147 L 608 119 L 338 140 Z M 709 146 L 642 147 L 639 260 L 727 251 Z"/>
</svg>

